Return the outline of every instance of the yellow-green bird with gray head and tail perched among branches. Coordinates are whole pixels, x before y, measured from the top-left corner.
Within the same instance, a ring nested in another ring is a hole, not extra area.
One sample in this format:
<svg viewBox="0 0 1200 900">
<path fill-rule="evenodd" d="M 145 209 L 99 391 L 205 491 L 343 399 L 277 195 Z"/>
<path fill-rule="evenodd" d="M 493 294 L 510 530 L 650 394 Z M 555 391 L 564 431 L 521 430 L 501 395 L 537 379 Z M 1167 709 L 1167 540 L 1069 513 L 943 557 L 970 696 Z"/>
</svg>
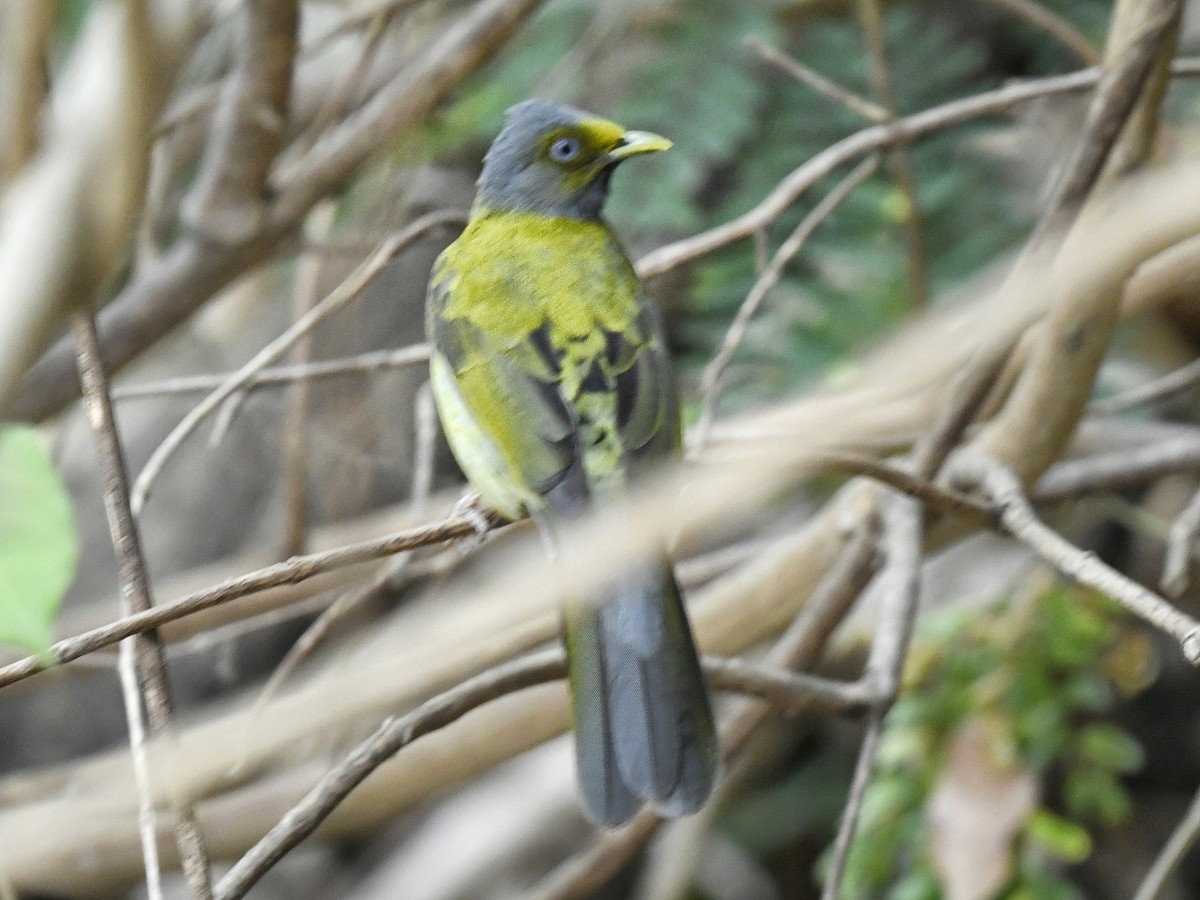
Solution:
<svg viewBox="0 0 1200 900">
<path fill-rule="evenodd" d="M 466 228 L 438 257 L 430 380 L 482 504 L 562 527 L 679 454 L 662 326 L 602 217 L 614 169 L 671 142 L 568 106 L 508 110 Z M 698 810 L 720 746 L 665 547 L 563 605 L 584 810 L 616 828 Z"/>
</svg>

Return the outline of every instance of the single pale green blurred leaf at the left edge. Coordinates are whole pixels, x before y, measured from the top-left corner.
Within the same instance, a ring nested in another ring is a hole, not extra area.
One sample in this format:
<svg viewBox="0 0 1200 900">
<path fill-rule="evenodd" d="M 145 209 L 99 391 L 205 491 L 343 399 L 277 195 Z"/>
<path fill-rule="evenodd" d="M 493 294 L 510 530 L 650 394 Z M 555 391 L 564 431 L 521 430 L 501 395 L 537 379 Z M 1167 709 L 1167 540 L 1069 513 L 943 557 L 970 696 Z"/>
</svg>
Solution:
<svg viewBox="0 0 1200 900">
<path fill-rule="evenodd" d="M 0 642 L 49 647 L 76 554 L 71 499 L 41 438 L 0 426 Z"/>
</svg>

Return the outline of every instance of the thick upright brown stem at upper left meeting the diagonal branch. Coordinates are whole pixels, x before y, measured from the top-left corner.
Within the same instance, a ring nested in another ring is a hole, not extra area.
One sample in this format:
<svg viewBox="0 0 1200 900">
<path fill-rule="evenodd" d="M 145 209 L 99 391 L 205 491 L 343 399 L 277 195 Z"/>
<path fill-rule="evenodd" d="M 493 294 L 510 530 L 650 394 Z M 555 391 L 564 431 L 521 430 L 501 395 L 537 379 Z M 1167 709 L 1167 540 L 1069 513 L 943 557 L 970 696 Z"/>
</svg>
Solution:
<svg viewBox="0 0 1200 900">
<path fill-rule="evenodd" d="M 298 0 L 246 0 L 233 76 L 217 98 L 194 187 L 180 206 L 205 241 L 236 246 L 263 229 L 266 178 L 287 134 Z"/>
</svg>

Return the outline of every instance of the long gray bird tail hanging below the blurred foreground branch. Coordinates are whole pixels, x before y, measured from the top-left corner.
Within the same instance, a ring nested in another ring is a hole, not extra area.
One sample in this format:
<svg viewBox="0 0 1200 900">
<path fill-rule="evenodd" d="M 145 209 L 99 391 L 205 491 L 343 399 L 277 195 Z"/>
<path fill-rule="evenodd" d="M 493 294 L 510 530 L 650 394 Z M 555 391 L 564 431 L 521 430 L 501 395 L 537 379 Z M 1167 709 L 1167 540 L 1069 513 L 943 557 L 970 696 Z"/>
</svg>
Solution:
<svg viewBox="0 0 1200 900">
<path fill-rule="evenodd" d="M 643 803 L 695 812 L 720 746 L 688 617 L 664 559 L 566 610 L 575 755 L 588 812 L 614 828 Z"/>
</svg>

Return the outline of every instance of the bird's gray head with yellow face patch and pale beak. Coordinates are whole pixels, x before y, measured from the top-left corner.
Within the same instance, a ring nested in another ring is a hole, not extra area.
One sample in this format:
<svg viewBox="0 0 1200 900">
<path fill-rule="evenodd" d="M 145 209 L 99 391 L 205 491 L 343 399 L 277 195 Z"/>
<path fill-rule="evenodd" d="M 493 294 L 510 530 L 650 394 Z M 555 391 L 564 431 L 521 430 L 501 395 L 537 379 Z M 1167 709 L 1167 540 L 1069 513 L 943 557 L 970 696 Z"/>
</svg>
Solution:
<svg viewBox="0 0 1200 900">
<path fill-rule="evenodd" d="M 571 107 L 527 100 L 509 109 L 484 157 L 476 208 L 596 218 L 617 163 L 671 142 Z"/>
</svg>

